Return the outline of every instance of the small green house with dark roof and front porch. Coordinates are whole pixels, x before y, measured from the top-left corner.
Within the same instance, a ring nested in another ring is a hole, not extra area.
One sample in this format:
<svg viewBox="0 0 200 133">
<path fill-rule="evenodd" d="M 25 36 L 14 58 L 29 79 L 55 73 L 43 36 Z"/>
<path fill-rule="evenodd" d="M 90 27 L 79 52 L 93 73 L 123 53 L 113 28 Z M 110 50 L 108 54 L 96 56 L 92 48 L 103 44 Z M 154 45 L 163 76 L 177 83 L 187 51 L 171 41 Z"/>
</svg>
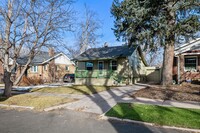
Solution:
<svg viewBox="0 0 200 133">
<path fill-rule="evenodd" d="M 146 62 L 137 46 L 91 48 L 74 61 L 75 84 L 110 86 L 145 80 Z"/>
</svg>

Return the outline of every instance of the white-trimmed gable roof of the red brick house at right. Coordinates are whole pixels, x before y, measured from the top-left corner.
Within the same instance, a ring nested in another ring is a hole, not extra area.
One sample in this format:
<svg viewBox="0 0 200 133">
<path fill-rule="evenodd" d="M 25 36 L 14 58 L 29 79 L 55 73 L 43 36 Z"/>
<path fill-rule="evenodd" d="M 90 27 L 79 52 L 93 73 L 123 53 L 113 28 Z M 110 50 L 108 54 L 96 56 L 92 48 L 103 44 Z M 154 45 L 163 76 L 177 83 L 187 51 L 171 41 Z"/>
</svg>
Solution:
<svg viewBox="0 0 200 133">
<path fill-rule="evenodd" d="M 200 50 L 200 38 L 190 41 L 189 43 L 183 44 L 180 47 L 175 48 L 175 55 L 182 54 L 187 51 Z"/>
</svg>

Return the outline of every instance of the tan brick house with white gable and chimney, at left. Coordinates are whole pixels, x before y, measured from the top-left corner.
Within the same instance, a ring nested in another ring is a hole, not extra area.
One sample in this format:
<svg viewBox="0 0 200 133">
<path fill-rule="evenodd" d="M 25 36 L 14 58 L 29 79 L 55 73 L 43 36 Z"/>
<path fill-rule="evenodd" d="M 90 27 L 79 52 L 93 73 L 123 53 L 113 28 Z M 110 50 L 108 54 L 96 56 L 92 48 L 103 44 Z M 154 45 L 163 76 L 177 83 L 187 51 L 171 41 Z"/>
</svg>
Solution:
<svg viewBox="0 0 200 133">
<path fill-rule="evenodd" d="M 21 73 L 28 57 L 17 60 L 16 77 Z M 40 52 L 32 60 L 25 72 L 28 78 L 40 78 L 44 82 L 62 81 L 65 74 L 74 74 L 75 64 L 63 53 Z"/>
</svg>

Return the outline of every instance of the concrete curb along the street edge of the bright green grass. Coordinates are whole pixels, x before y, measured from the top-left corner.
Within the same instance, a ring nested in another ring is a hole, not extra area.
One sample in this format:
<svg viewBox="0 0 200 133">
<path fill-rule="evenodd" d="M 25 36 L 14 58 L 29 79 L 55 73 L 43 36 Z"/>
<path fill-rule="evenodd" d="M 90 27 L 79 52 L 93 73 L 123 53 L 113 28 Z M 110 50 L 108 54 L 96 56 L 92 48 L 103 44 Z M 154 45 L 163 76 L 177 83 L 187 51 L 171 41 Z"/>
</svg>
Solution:
<svg viewBox="0 0 200 133">
<path fill-rule="evenodd" d="M 122 122 L 130 122 L 130 123 L 136 123 L 136 124 L 142 124 L 142 125 L 147 125 L 147 126 L 157 126 L 157 127 L 162 127 L 166 129 L 176 129 L 176 130 L 183 130 L 183 131 L 188 131 L 188 132 L 196 132 L 200 133 L 200 129 L 190 129 L 190 128 L 181 128 L 181 127 L 170 127 L 170 126 L 158 126 L 153 123 L 148 123 L 148 122 L 141 122 L 141 121 L 135 121 L 135 120 L 130 120 L 130 119 L 121 119 L 121 118 L 116 118 L 116 117 L 109 117 L 105 115 L 100 116 L 101 120 L 117 120 L 117 121 L 122 121 Z"/>
</svg>

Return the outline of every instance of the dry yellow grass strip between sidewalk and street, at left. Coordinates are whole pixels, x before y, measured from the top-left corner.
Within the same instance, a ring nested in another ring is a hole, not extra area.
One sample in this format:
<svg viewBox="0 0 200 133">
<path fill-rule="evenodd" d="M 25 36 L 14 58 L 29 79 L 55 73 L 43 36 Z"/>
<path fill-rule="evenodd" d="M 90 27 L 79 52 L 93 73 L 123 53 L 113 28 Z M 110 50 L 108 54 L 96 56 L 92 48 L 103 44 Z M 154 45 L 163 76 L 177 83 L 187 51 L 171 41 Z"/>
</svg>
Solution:
<svg viewBox="0 0 200 133">
<path fill-rule="evenodd" d="M 34 107 L 34 109 L 36 110 L 43 110 L 51 106 L 56 106 L 73 101 L 75 101 L 75 99 L 56 96 L 36 96 L 29 94 L 16 95 L 8 99 L 0 97 L 0 104 L 29 106 Z"/>
</svg>

